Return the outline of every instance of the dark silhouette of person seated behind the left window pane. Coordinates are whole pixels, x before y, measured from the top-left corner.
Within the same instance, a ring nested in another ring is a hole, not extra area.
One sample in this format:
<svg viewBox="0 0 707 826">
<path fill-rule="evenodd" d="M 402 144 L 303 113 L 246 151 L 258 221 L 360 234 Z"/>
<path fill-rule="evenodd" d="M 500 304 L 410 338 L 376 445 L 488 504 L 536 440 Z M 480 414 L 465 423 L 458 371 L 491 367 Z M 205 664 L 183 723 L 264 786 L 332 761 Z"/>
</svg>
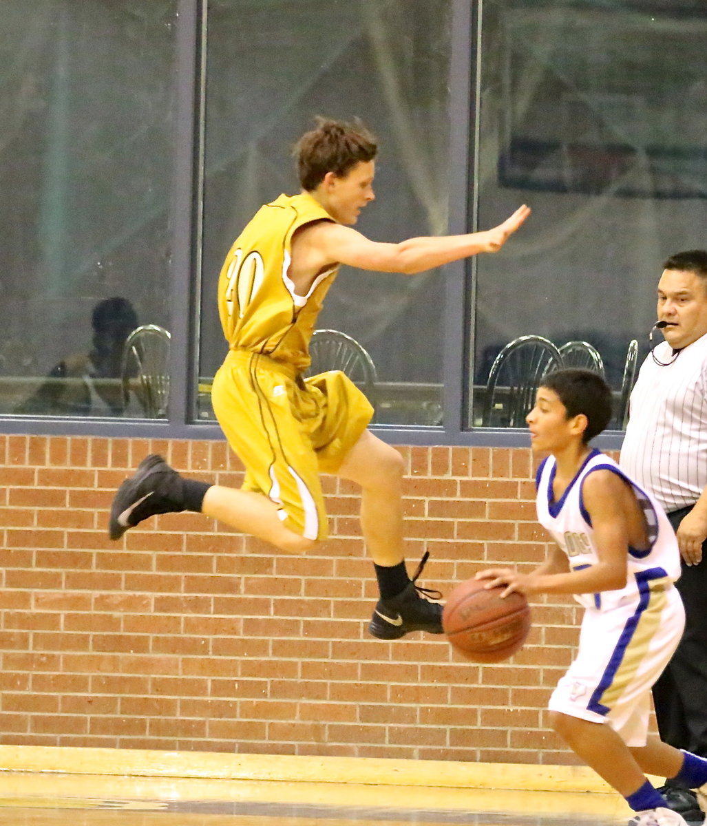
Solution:
<svg viewBox="0 0 707 826">
<path fill-rule="evenodd" d="M 55 364 L 17 413 L 117 416 L 125 409 L 120 382 L 123 345 L 138 324 L 126 298 L 106 298 L 93 308 L 93 349 Z M 65 381 L 62 381 L 64 379 Z M 112 381 L 102 382 L 102 379 Z"/>
</svg>

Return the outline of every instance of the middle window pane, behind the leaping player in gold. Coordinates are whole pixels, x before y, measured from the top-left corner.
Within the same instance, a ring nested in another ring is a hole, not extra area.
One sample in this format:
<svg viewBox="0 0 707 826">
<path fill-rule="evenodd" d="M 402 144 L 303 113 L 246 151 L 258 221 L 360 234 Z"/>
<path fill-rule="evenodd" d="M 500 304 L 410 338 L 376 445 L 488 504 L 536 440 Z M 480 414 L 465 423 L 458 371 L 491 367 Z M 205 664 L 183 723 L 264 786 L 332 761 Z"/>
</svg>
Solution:
<svg viewBox="0 0 707 826">
<path fill-rule="evenodd" d="M 216 281 L 264 202 L 297 192 L 290 147 L 313 116 L 354 116 L 377 134 L 377 200 L 357 225 L 374 240 L 447 231 L 450 0 L 213 0 L 208 7 L 202 325 L 197 416 L 225 341 Z M 234 32 L 238 37 L 234 37 Z M 438 272 L 342 268 L 320 328 L 370 354 L 377 421 L 441 423 Z"/>
</svg>

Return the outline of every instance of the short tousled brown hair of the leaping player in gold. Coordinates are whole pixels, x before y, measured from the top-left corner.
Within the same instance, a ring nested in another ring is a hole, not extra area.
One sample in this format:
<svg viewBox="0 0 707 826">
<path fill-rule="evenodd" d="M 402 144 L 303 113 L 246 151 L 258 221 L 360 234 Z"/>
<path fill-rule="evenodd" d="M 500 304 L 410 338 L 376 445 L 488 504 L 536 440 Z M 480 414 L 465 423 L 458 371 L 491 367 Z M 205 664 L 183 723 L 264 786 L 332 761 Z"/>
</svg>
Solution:
<svg viewBox="0 0 707 826">
<path fill-rule="evenodd" d="M 356 164 L 374 159 L 377 151 L 375 135 L 358 118 L 348 123 L 317 117 L 316 128 L 301 136 L 292 154 L 301 187 L 310 192 L 326 173 L 343 178 Z"/>
</svg>

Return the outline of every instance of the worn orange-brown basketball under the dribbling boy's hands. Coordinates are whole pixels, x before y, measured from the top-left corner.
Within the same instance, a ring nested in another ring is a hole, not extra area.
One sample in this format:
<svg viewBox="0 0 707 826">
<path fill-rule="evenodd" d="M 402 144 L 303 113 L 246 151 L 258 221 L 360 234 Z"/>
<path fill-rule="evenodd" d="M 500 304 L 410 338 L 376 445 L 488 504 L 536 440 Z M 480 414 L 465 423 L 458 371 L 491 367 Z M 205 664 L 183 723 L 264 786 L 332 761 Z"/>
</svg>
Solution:
<svg viewBox="0 0 707 826">
<path fill-rule="evenodd" d="M 442 627 L 452 647 L 473 662 L 502 662 L 523 647 L 530 630 L 530 608 L 523 594 L 501 598 L 505 586 L 486 589 L 467 579 L 448 596 Z"/>
</svg>

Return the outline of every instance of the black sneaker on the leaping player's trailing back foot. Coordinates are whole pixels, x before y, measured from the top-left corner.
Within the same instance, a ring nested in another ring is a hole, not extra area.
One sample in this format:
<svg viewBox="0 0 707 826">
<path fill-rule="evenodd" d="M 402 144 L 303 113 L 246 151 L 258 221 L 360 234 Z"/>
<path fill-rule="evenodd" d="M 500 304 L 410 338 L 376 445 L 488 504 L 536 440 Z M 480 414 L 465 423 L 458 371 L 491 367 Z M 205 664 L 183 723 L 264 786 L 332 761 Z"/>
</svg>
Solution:
<svg viewBox="0 0 707 826">
<path fill-rule="evenodd" d="M 153 453 L 144 458 L 134 475 L 118 488 L 111 506 L 108 536 L 120 539 L 128 528 L 157 514 L 178 513 L 182 478 L 164 458 Z"/>
</svg>

